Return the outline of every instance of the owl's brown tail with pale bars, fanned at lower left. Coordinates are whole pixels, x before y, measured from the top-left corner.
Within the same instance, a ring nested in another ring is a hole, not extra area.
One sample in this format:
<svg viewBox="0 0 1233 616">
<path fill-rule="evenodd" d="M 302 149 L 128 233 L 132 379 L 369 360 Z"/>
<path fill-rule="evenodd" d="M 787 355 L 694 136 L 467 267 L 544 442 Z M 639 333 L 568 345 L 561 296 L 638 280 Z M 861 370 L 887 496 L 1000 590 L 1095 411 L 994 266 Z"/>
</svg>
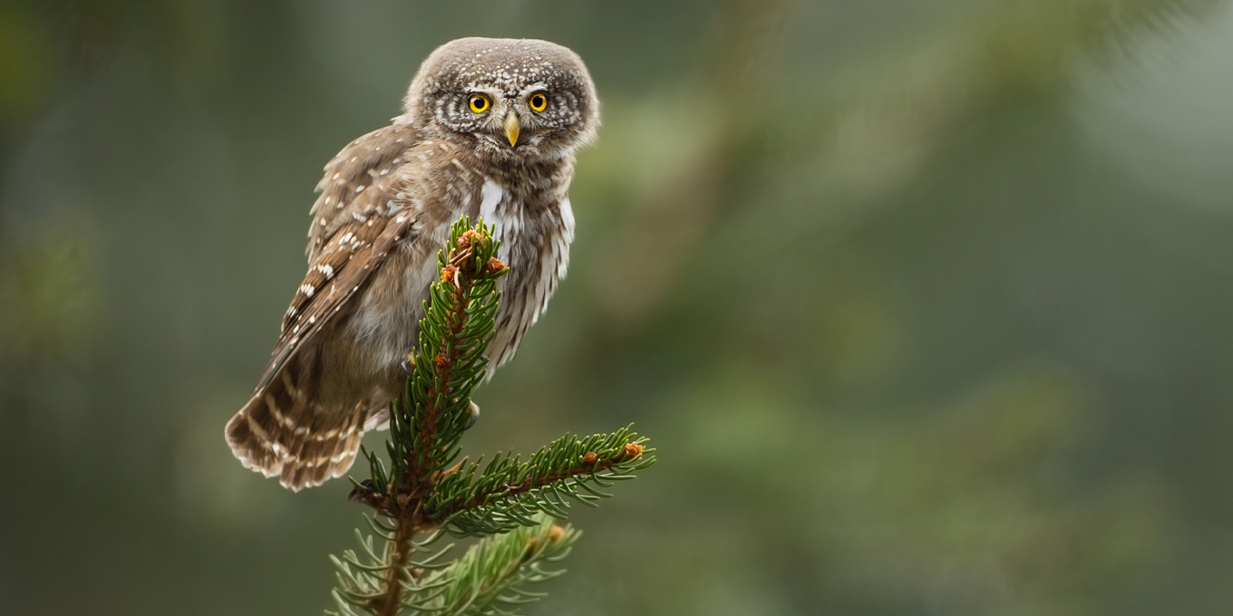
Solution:
<svg viewBox="0 0 1233 616">
<path fill-rule="evenodd" d="M 295 492 L 342 477 L 360 448 L 367 403 L 322 408 L 293 386 L 289 371 L 281 372 L 227 423 L 232 453 Z"/>
</svg>

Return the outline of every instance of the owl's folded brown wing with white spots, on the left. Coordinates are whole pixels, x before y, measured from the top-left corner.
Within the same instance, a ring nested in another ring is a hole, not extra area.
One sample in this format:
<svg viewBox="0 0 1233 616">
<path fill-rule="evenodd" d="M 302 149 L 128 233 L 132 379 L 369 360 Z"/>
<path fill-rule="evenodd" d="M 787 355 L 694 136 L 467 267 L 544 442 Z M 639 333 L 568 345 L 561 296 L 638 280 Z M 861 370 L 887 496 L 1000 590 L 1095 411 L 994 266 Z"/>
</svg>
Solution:
<svg viewBox="0 0 1233 616">
<path fill-rule="evenodd" d="M 387 207 L 414 131 L 393 124 L 355 139 L 326 165 L 308 233 L 309 267 L 282 318 L 282 333 L 258 381 L 261 392 L 296 351 L 338 314 L 386 254 L 407 238 L 416 213 Z"/>
</svg>

